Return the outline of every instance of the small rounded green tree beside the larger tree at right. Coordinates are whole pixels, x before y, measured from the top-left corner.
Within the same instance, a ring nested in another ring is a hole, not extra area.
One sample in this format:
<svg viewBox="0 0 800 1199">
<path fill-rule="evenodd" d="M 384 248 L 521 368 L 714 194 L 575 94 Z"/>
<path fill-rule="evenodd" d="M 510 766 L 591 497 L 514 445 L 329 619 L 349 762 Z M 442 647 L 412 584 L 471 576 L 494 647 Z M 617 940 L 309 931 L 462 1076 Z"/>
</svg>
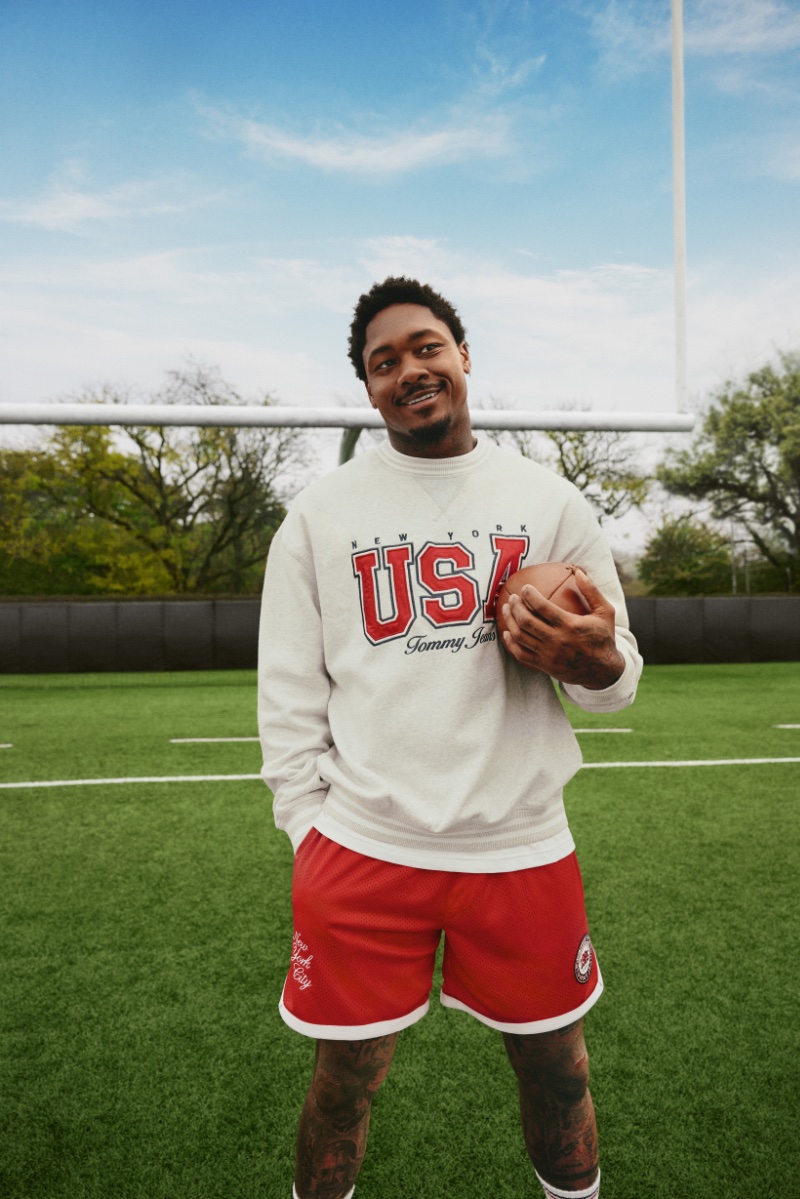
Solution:
<svg viewBox="0 0 800 1199">
<path fill-rule="evenodd" d="M 654 596 L 718 595 L 730 589 L 727 540 L 691 516 L 666 517 L 637 570 Z"/>
</svg>

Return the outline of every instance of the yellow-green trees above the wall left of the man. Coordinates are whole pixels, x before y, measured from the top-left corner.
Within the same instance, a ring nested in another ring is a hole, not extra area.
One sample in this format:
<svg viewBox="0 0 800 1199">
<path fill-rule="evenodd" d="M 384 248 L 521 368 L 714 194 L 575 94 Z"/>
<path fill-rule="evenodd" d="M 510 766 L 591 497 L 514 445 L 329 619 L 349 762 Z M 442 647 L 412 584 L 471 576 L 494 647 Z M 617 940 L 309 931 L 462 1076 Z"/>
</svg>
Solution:
<svg viewBox="0 0 800 1199">
<path fill-rule="evenodd" d="M 200 367 L 170 374 L 154 399 L 241 403 Z M 59 427 L 37 450 L 0 453 L 0 591 L 255 594 L 305 465 L 295 429 Z"/>
</svg>

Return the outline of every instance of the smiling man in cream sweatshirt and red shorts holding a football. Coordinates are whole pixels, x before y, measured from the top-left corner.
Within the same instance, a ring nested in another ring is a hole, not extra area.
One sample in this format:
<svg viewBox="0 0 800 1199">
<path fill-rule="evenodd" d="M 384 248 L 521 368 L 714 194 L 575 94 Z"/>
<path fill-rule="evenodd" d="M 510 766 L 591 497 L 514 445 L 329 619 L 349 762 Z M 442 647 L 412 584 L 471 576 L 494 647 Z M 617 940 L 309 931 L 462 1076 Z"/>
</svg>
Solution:
<svg viewBox="0 0 800 1199">
<path fill-rule="evenodd" d="M 642 659 L 609 550 L 565 480 L 476 439 L 455 308 L 389 278 L 350 359 L 387 441 L 308 487 L 272 542 L 259 727 L 295 849 L 284 1020 L 317 1041 L 295 1199 L 349 1199 L 398 1032 L 441 1002 L 501 1032 L 547 1197 L 596 1199 L 584 1013 L 597 968 L 561 790 L 581 754 L 553 686 L 632 703 Z M 577 562 L 572 616 L 522 565 Z"/>
</svg>

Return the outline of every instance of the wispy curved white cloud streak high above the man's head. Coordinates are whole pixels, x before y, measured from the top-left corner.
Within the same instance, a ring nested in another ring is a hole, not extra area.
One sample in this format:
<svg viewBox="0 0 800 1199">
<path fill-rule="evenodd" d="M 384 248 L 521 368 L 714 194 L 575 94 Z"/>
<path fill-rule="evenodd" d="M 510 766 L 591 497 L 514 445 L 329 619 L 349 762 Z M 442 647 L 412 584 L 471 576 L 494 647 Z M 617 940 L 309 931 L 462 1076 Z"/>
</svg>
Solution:
<svg viewBox="0 0 800 1199">
<path fill-rule="evenodd" d="M 475 157 L 495 158 L 510 149 L 509 122 L 503 114 L 456 120 L 438 129 L 371 137 L 349 131 L 301 135 L 210 108 L 203 109 L 203 115 L 212 132 L 241 143 L 257 158 L 373 177 L 391 177 Z"/>
</svg>

